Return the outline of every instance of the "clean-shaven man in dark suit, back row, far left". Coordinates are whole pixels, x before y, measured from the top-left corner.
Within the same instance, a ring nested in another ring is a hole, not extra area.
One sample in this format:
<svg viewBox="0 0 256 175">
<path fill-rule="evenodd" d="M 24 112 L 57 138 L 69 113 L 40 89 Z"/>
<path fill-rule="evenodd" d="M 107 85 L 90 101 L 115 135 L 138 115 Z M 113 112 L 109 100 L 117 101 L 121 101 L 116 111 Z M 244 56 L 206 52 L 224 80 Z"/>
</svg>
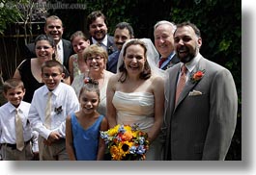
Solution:
<svg viewBox="0 0 256 175">
<path fill-rule="evenodd" d="M 71 41 L 63 39 L 63 23 L 62 20 L 56 16 L 51 15 L 46 18 L 44 24 L 44 33 L 54 39 L 56 45 L 55 58 L 69 69 L 69 59 L 73 54 Z M 29 43 L 25 47 L 25 58 L 36 58 L 35 43 Z"/>
</svg>

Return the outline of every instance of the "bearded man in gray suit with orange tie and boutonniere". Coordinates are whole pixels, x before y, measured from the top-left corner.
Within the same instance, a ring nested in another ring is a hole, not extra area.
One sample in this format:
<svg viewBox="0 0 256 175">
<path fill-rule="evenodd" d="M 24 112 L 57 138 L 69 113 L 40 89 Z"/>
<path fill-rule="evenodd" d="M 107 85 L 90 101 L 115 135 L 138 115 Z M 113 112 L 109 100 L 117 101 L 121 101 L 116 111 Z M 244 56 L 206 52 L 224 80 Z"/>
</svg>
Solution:
<svg viewBox="0 0 256 175">
<path fill-rule="evenodd" d="M 201 45 L 194 24 L 177 25 L 174 48 L 181 63 L 166 71 L 164 160 L 223 161 L 235 132 L 238 95 L 233 77 L 205 59 Z"/>
</svg>

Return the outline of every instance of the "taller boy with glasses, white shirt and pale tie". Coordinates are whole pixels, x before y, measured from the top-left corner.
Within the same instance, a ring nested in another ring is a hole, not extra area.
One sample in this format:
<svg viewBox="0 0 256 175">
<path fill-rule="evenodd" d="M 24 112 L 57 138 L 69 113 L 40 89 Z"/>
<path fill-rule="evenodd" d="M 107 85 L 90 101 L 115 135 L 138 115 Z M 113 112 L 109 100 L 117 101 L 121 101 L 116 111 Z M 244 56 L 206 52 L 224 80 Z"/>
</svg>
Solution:
<svg viewBox="0 0 256 175">
<path fill-rule="evenodd" d="M 42 79 L 45 84 L 33 96 L 29 120 L 39 132 L 41 161 L 68 161 L 65 145 L 66 117 L 79 110 L 73 88 L 61 82 L 63 65 L 50 60 L 43 63 Z"/>
</svg>

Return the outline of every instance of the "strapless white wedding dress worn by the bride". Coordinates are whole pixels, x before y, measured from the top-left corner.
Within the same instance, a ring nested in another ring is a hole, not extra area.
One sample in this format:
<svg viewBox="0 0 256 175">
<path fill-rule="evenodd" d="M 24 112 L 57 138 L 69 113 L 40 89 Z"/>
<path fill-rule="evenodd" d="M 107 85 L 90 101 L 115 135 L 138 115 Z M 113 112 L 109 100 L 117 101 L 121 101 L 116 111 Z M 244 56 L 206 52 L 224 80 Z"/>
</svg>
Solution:
<svg viewBox="0 0 256 175">
<path fill-rule="evenodd" d="M 112 101 L 117 111 L 117 123 L 138 124 L 144 132 L 149 132 L 154 124 L 154 95 L 149 92 L 116 91 Z M 161 144 L 158 138 L 150 144 L 146 161 L 161 160 Z"/>
</svg>

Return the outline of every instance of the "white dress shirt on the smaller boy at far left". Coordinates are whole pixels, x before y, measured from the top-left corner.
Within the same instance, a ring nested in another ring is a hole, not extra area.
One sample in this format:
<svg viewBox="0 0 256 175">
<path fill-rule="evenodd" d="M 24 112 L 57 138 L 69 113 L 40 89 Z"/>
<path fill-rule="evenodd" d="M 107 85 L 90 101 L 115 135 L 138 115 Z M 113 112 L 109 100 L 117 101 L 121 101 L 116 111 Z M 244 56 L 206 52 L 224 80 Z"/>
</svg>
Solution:
<svg viewBox="0 0 256 175">
<path fill-rule="evenodd" d="M 21 101 L 17 110 L 22 120 L 24 141 L 33 138 L 33 151 L 38 152 L 37 133 L 32 132 L 31 125 L 28 120 L 28 112 L 30 103 Z M 16 108 L 10 102 L 0 107 L 0 143 L 16 144 L 15 137 L 15 110 Z"/>
</svg>

